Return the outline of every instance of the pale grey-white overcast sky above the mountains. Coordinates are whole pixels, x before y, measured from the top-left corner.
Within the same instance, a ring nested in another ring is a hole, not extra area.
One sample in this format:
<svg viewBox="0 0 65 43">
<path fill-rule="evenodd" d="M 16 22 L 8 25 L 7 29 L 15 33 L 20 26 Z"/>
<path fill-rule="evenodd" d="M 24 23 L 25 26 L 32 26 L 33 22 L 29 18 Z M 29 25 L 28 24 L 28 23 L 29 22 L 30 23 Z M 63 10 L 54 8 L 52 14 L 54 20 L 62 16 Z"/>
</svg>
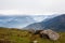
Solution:
<svg viewBox="0 0 65 43">
<path fill-rule="evenodd" d="M 0 0 L 0 14 L 63 14 L 65 0 Z"/>
</svg>

